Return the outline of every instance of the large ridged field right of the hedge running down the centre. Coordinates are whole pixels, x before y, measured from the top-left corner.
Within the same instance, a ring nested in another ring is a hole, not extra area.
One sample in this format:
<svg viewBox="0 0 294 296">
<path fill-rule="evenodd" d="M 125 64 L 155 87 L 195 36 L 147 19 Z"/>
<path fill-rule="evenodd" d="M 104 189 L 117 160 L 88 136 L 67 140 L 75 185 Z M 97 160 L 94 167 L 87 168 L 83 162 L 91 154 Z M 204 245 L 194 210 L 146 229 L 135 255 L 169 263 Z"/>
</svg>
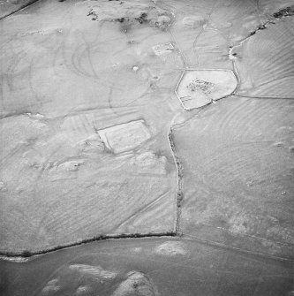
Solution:
<svg viewBox="0 0 294 296">
<path fill-rule="evenodd" d="M 294 188 L 290 177 L 280 176 L 290 176 L 294 168 L 289 158 L 289 128 L 294 123 L 288 110 L 292 106 L 290 101 L 224 100 L 211 116 L 199 116 L 175 130 L 186 171 L 181 207 L 185 233 L 194 231 L 204 239 L 212 239 L 215 233 L 222 242 L 222 229 L 226 229 L 234 246 L 239 243 L 241 248 L 291 257 L 293 215 L 288 213 L 287 196 Z M 282 136 L 281 129 L 289 133 Z M 215 230 L 206 230 L 205 224 Z M 252 239 L 246 242 L 247 235 Z M 258 238 L 268 239 L 271 247 Z"/>
</svg>

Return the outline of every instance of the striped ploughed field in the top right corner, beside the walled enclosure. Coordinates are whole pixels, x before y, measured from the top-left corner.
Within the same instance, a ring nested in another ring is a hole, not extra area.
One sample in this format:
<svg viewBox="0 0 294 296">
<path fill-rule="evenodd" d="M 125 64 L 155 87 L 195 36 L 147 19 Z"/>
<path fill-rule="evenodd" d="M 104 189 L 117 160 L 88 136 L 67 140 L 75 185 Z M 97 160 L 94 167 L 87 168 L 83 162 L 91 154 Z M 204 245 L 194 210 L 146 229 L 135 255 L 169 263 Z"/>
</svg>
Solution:
<svg viewBox="0 0 294 296">
<path fill-rule="evenodd" d="M 294 7 L 294 6 L 293 6 Z M 237 95 L 291 98 L 294 72 L 291 27 L 294 8 L 287 7 L 231 47 L 230 59 L 239 78 Z M 274 36 L 274 37 L 273 37 Z"/>
</svg>

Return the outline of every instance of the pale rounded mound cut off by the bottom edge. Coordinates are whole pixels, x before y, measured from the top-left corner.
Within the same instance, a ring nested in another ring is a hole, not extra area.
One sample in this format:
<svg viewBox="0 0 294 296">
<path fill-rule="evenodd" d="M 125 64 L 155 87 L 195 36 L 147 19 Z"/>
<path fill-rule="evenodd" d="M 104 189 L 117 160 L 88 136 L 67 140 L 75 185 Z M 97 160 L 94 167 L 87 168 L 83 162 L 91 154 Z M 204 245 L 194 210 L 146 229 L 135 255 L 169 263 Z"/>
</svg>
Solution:
<svg viewBox="0 0 294 296">
<path fill-rule="evenodd" d="M 112 296 L 159 296 L 159 292 L 153 281 L 144 273 L 131 271 Z"/>
</svg>

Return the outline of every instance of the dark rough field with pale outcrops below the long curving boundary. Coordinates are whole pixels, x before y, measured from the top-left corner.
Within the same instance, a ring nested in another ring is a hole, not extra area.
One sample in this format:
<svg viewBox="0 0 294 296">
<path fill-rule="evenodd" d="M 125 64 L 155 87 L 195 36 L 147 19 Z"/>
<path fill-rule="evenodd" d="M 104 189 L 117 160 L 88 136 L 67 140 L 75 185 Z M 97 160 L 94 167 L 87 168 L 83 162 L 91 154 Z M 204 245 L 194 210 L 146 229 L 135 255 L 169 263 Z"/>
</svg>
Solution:
<svg viewBox="0 0 294 296">
<path fill-rule="evenodd" d="M 192 239 L 115 239 L 1 267 L 10 296 L 290 296 L 293 288 L 290 263 Z"/>
</svg>

